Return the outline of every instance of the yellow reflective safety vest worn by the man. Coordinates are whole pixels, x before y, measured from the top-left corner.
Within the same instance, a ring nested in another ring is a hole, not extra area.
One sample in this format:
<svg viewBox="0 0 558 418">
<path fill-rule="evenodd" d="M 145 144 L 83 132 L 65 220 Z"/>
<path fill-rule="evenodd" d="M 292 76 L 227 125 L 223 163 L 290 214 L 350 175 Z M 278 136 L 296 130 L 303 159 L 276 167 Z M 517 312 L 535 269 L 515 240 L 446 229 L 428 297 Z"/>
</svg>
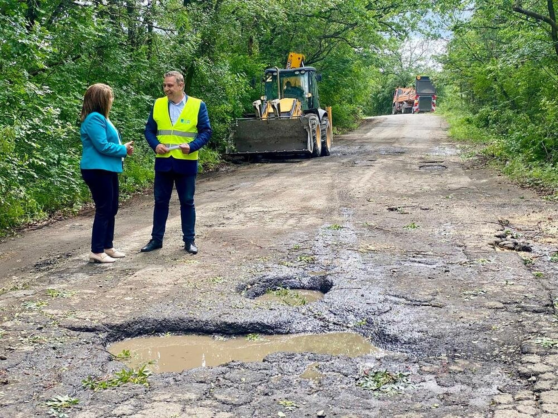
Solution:
<svg viewBox="0 0 558 418">
<path fill-rule="evenodd" d="M 188 96 L 184 109 L 176 123 L 173 125 L 169 115 L 169 98 L 162 97 L 155 100 L 153 106 L 153 119 L 157 123 L 157 140 L 167 148 L 172 145 L 192 142 L 198 135 L 198 113 L 201 100 Z M 155 154 L 156 158 L 198 159 L 198 151 L 190 154 L 182 153 L 180 149 L 172 149 L 166 154 Z"/>
</svg>

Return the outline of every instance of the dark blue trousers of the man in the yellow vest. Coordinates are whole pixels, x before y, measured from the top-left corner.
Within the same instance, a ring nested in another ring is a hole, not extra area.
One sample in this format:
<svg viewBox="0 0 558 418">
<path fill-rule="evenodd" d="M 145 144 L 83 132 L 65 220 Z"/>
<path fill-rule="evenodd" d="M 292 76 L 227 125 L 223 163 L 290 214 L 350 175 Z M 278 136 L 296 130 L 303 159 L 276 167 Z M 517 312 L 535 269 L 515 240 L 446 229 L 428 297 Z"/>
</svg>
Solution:
<svg viewBox="0 0 558 418">
<path fill-rule="evenodd" d="M 172 195 L 172 186 L 176 184 L 176 192 L 180 200 L 180 219 L 182 221 L 182 240 L 194 241 L 196 225 L 196 208 L 194 206 L 194 192 L 196 189 L 196 176 L 175 173 L 174 171 L 156 171 L 153 195 L 155 195 L 155 208 L 153 208 L 153 240 L 163 242 L 165 225 L 169 217 L 169 202 Z"/>
</svg>

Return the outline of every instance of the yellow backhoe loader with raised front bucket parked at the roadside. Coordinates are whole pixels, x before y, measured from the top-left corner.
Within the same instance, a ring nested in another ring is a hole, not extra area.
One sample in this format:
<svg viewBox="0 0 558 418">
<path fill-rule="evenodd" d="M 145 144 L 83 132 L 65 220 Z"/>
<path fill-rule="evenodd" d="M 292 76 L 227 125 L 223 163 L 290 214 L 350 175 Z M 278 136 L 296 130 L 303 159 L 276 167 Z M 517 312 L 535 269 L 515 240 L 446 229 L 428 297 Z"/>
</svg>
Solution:
<svg viewBox="0 0 558 418">
<path fill-rule="evenodd" d="M 254 116 L 235 120 L 230 155 L 329 155 L 333 134 L 331 107 L 321 109 L 314 67 L 291 52 L 285 69 L 264 71 L 265 95 L 253 102 Z"/>
</svg>

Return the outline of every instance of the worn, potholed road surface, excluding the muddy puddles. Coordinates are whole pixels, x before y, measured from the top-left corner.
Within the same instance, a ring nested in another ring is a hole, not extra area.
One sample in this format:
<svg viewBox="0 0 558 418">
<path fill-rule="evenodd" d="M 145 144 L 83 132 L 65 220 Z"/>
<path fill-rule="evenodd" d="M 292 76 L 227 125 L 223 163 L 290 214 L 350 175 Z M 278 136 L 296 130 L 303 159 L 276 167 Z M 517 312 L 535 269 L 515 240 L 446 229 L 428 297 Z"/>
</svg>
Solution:
<svg viewBox="0 0 558 418">
<path fill-rule="evenodd" d="M 556 205 L 464 159 L 438 116 L 368 119 L 330 157 L 200 176 L 196 208 L 195 256 L 176 199 L 163 248 L 138 252 L 150 193 L 119 211 L 112 265 L 86 263 L 91 215 L 0 244 L 0 416 L 558 418 Z M 279 286 L 325 296 L 253 299 Z M 330 332 L 378 351 L 82 385 L 122 369 L 106 348 L 125 338 Z M 374 390 L 381 376 L 396 381 Z M 49 412 L 66 395 L 79 403 Z"/>
</svg>

